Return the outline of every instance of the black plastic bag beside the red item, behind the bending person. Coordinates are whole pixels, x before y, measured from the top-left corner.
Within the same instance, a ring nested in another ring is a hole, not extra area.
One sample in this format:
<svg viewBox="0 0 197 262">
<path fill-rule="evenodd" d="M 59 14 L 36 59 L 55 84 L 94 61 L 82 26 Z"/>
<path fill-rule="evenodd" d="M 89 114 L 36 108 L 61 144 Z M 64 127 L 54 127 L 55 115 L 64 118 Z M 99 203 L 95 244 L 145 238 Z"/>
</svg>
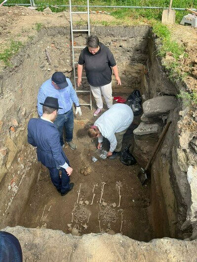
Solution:
<svg viewBox="0 0 197 262">
<path fill-rule="evenodd" d="M 140 95 L 140 91 L 137 89 L 135 89 L 131 93 L 131 95 L 126 99 L 125 102 L 125 104 L 130 106 L 135 116 L 140 115 L 142 113 L 141 103 L 142 103 L 142 98 Z"/>
</svg>

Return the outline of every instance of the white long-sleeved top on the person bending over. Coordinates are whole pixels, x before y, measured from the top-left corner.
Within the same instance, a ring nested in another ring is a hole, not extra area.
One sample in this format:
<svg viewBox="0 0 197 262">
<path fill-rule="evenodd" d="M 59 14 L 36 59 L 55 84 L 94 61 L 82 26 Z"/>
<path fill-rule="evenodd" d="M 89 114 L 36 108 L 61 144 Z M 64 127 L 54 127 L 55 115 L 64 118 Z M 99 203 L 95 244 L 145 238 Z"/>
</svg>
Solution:
<svg viewBox="0 0 197 262">
<path fill-rule="evenodd" d="M 114 152 L 117 147 L 115 133 L 127 129 L 133 122 L 133 111 L 126 104 L 114 104 L 103 113 L 94 123 L 98 127 L 101 135 L 98 142 L 103 142 L 103 136 L 110 141 L 110 152 Z"/>
</svg>

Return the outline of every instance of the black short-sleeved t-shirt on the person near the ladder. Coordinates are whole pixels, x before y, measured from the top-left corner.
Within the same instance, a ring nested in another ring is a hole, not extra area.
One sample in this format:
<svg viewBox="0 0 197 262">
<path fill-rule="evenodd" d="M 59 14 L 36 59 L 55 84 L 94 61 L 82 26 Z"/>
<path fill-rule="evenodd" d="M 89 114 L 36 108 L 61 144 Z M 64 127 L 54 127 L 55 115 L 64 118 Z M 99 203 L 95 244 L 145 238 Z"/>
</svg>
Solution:
<svg viewBox="0 0 197 262">
<path fill-rule="evenodd" d="M 85 65 L 87 81 L 91 86 L 104 86 L 112 81 L 112 68 L 116 61 L 110 49 L 99 43 L 99 51 L 92 55 L 86 46 L 80 53 L 79 65 Z"/>
</svg>

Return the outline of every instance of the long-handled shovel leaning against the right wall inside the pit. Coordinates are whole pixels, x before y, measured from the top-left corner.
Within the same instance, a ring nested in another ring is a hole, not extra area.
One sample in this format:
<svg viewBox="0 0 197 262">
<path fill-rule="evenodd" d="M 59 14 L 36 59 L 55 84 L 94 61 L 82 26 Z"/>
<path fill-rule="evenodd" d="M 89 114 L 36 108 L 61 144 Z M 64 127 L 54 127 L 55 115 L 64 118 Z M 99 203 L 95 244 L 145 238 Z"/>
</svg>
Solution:
<svg viewBox="0 0 197 262">
<path fill-rule="evenodd" d="M 146 167 L 145 167 L 144 169 L 141 167 L 141 169 L 140 169 L 140 171 L 139 171 L 139 173 L 138 173 L 138 175 L 137 175 L 138 178 L 139 178 L 139 180 L 140 180 L 140 182 L 142 183 L 142 185 L 144 185 L 145 181 L 147 180 L 147 173 L 146 173 L 146 171 L 147 171 L 147 169 L 149 168 L 149 165 L 151 164 L 151 161 L 153 160 L 153 158 L 154 158 L 154 156 L 155 156 L 155 154 L 156 154 L 156 152 L 157 152 L 157 150 L 158 150 L 158 147 L 159 147 L 159 145 L 160 145 L 160 143 L 161 143 L 161 140 L 163 139 L 163 137 L 164 137 L 165 133 L 167 132 L 167 130 L 168 130 L 168 128 L 169 128 L 169 126 L 170 126 L 171 123 L 172 123 L 172 122 L 169 121 L 169 122 L 166 124 L 166 126 L 165 126 L 165 128 L 163 129 L 163 131 L 161 132 L 161 135 L 160 135 L 160 137 L 159 137 L 159 139 L 158 139 L 158 142 L 157 142 L 157 144 L 156 144 L 156 146 L 155 146 L 153 155 L 152 155 L 151 158 L 149 159 L 149 162 L 147 163 Z"/>
</svg>

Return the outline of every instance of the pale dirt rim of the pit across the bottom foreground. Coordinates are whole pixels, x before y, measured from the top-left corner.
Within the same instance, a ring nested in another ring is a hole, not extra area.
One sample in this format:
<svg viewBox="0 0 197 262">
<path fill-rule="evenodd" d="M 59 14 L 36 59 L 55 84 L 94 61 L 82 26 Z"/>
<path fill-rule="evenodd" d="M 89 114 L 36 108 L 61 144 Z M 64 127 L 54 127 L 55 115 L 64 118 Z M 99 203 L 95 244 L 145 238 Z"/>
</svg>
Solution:
<svg viewBox="0 0 197 262">
<path fill-rule="evenodd" d="M 3 230 L 19 239 L 24 261 L 158 262 L 196 261 L 197 258 L 197 240 L 165 237 L 145 243 L 121 234 L 72 236 L 59 230 L 23 227 L 7 227 Z"/>
</svg>

